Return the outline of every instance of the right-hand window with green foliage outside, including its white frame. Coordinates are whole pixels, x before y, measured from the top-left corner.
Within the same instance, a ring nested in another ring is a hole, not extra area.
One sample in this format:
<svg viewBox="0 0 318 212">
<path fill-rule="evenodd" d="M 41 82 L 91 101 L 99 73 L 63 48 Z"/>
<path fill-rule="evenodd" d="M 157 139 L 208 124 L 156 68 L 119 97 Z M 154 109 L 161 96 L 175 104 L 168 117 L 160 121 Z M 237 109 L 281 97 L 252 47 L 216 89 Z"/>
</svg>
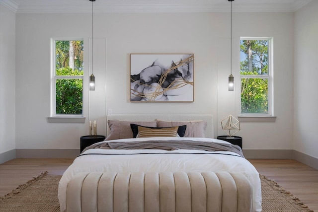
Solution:
<svg viewBox="0 0 318 212">
<path fill-rule="evenodd" d="M 272 81 L 272 38 L 241 38 L 241 116 L 273 115 Z"/>
</svg>

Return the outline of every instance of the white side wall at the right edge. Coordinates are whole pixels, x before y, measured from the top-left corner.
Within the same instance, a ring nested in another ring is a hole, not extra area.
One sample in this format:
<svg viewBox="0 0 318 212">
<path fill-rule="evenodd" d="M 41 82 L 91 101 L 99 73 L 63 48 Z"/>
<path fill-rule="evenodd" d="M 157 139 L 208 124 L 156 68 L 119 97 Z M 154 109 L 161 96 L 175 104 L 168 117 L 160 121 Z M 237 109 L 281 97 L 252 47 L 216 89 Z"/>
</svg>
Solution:
<svg viewBox="0 0 318 212">
<path fill-rule="evenodd" d="M 318 1 L 295 12 L 294 149 L 318 158 Z"/>
</svg>

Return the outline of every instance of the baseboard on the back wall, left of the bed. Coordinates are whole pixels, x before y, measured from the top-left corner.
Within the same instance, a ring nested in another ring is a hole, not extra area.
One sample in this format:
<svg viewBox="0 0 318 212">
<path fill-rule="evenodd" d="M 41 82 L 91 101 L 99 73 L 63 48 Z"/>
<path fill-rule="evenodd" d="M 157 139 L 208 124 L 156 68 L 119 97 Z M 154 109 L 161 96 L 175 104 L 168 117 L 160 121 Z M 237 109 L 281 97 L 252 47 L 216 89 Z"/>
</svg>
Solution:
<svg viewBox="0 0 318 212">
<path fill-rule="evenodd" d="M 16 158 L 75 158 L 79 149 L 16 149 Z"/>
</svg>

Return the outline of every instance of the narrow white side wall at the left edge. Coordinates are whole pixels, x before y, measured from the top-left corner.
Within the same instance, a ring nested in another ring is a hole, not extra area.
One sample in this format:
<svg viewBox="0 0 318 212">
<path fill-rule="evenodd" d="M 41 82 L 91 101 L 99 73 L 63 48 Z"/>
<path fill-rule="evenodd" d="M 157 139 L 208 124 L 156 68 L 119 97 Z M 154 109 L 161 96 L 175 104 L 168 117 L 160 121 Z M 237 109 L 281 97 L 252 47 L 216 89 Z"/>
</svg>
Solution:
<svg viewBox="0 0 318 212">
<path fill-rule="evenodd" d="M 15 149 L 15 13 L 0 4 L 0 154 L 12 149 Z"/>
</svg>

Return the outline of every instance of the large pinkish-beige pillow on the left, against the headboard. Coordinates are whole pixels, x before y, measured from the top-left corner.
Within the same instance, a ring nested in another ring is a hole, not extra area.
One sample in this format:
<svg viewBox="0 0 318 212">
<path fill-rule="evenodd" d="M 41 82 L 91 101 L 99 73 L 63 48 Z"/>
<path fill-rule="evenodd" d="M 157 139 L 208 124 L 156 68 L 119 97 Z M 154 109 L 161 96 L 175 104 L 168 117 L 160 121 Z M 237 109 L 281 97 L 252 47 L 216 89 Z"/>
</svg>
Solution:
<svg viewBox="0 0 318 212">
<path fill-rule="evenodd" d="M 108 127 L 110 133 L 105 141 L 116 139 L 131 139 L 134 138 L 131 131 L 130 124 L 142 125 L 145 127 L 157 127 L 157 122 L 134 122 L 134 121 L 120 121 L 120 120 L 108 120 Z"/>
</svg>

